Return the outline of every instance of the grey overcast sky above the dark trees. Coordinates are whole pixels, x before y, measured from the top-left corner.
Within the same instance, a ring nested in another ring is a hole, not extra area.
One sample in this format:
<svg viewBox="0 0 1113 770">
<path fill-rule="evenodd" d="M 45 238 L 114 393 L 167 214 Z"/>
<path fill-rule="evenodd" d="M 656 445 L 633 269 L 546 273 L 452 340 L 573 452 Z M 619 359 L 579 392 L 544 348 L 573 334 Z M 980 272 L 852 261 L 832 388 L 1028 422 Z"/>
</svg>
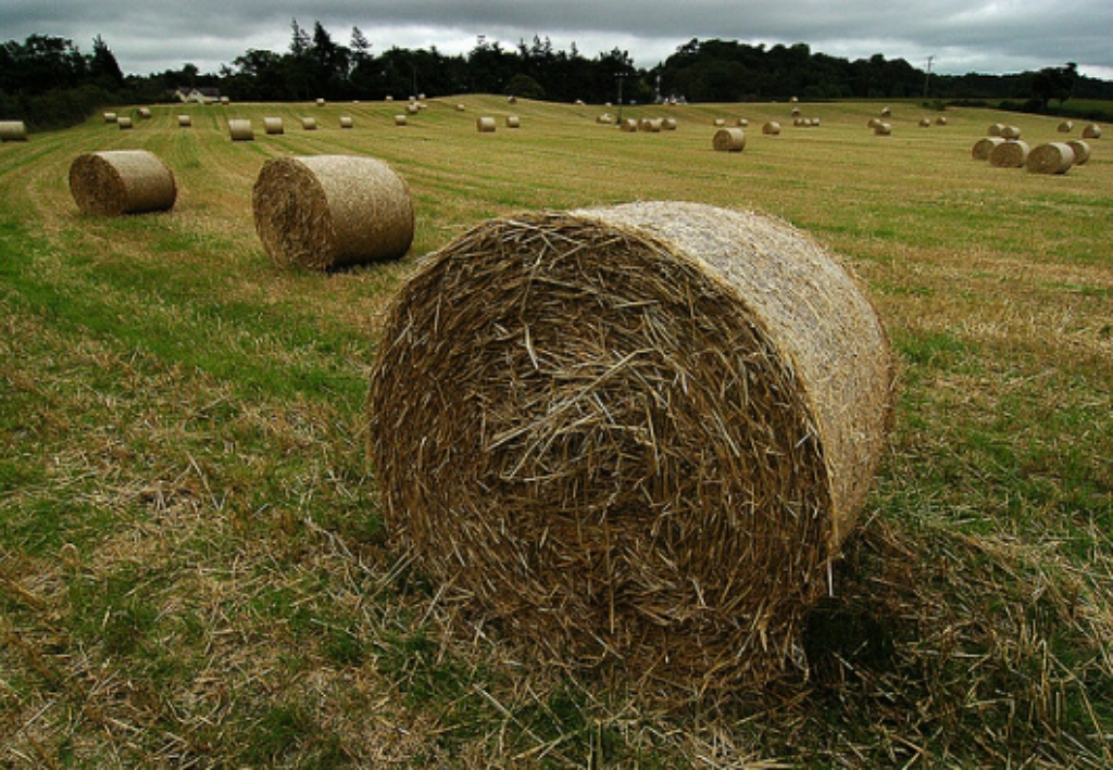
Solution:
<svg viewBox="0 0 1113 770">
<path fill-rule="evenodd" d="M 290 20 L 324 24 L 372 53 L 471 50 L 479 36 L 514 48 L 533 36 L 592 58 L 620 48 L 652 67 L 691 38 L 804 42 L 847 59 L 881 53 L 952 75 L 1007 73 L 1074 61 L 1113 79 L 1113 0 L 0 0 L 0 40 L 100 34 L 129 75 L 232 65 L 248 49 L 287 50 Z"/>
</svg>

